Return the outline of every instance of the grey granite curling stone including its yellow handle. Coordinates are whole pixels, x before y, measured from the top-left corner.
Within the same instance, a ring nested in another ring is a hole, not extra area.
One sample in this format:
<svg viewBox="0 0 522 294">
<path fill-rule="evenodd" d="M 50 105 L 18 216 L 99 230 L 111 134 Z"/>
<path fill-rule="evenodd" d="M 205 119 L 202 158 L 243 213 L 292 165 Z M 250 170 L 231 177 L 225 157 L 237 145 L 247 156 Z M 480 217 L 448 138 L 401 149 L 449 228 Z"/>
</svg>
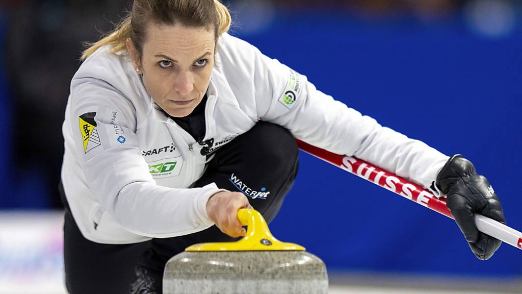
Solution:
<svg viewBox="0 0 522 294">
<path fill-rule="evenodd" d="M 238 242 L 200 243 L 172 257 L 164 294 L 327 294 L 324 262 L 305 248 L 277 240 L 261 213 L 240 209 L 247 225 Z"/>
</svg>

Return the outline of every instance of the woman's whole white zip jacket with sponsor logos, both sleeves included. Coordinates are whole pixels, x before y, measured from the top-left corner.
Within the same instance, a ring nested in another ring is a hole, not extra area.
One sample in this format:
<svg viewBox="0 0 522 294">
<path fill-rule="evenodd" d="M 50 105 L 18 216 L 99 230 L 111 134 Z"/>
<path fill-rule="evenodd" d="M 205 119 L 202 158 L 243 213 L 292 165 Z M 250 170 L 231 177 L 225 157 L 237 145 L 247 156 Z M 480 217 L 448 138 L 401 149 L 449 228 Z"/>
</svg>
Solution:
<svg viewBox="0 0 522 294">
<path fill-rule="evenodd" d="M 261 119 L 320 148 L 357 156 L 429 187 L 448 156 L 382 127 L 318 91 L 306 76 L 223 34 L 205 108 L 205 139 L 226 144 Z M 194 138 L 153 103 L 126 55 L 94 52 L 71 82 L 62 180 L 89 240 L 123 244 L 194 233 L 215 184 L 188 188 L 204 172 Z"/>
</svg>

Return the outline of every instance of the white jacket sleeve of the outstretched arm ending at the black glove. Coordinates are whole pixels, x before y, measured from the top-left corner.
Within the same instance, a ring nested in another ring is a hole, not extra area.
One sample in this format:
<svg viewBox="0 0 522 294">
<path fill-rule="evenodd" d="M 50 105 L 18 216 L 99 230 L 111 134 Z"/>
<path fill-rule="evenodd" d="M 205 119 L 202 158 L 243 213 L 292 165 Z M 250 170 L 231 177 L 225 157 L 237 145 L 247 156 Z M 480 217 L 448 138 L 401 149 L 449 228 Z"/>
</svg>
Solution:
<svg viewBox="0 0 522 294">
<path fill-rule="evenodd" d="M 373 118 L 318 91 L 254 48 L 254 86 L 260 119 L 288 128 L 295 138 L 337 154 L 357 156 L 430 188 L 448 156 L 382 127 Z"/>
</svg>

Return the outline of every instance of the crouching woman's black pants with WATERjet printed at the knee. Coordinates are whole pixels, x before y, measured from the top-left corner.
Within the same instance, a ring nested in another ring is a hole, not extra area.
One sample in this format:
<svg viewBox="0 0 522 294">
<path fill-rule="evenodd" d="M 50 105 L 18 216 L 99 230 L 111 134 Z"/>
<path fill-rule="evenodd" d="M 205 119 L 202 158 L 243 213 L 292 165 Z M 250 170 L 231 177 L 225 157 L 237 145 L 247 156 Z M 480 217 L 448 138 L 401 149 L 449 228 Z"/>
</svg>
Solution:
<svg viewBox="0 0 522 294">
<path fill-rule="evenodd" d="M 214 182 L 220 188 L 241 191 L 270 222 L 292 187 L 297 169 L 298 147 L 291 133 L 272 123 L 258 122 L 215 151 L 205 173 L 193 186 Z M 259 192 L 267 196 L 259 197 Z M 170 257 L 192 244 L 237 240 L 212 226 L 189 235 L 136 244 L 94 243 L 81 235 L 62 198 L 66 206 L 65 280 L 71 294 L 129 293 L 137 264 L 162 273 Z"/>
</svg>

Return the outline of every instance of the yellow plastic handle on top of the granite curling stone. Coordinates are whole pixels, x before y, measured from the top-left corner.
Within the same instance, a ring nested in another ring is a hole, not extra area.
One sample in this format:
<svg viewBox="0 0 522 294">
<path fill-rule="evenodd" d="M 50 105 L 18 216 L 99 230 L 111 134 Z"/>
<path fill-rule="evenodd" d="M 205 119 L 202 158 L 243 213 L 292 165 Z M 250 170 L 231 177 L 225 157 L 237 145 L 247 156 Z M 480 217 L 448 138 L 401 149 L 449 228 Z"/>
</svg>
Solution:
<svg viewBox="0 0 522 294">
<path fill-rule="evenodd" d="M 238 219 L 242 225 L 247 225 L 246 235 L 237 242 L 200 243 L 189 246 L 185 251 L 267 251 L 292 250 L 304 251 L 305 248 L 294 243 L 277 240 L 263 218 L 255 209 L 238 210 Z"/>
</svg>

